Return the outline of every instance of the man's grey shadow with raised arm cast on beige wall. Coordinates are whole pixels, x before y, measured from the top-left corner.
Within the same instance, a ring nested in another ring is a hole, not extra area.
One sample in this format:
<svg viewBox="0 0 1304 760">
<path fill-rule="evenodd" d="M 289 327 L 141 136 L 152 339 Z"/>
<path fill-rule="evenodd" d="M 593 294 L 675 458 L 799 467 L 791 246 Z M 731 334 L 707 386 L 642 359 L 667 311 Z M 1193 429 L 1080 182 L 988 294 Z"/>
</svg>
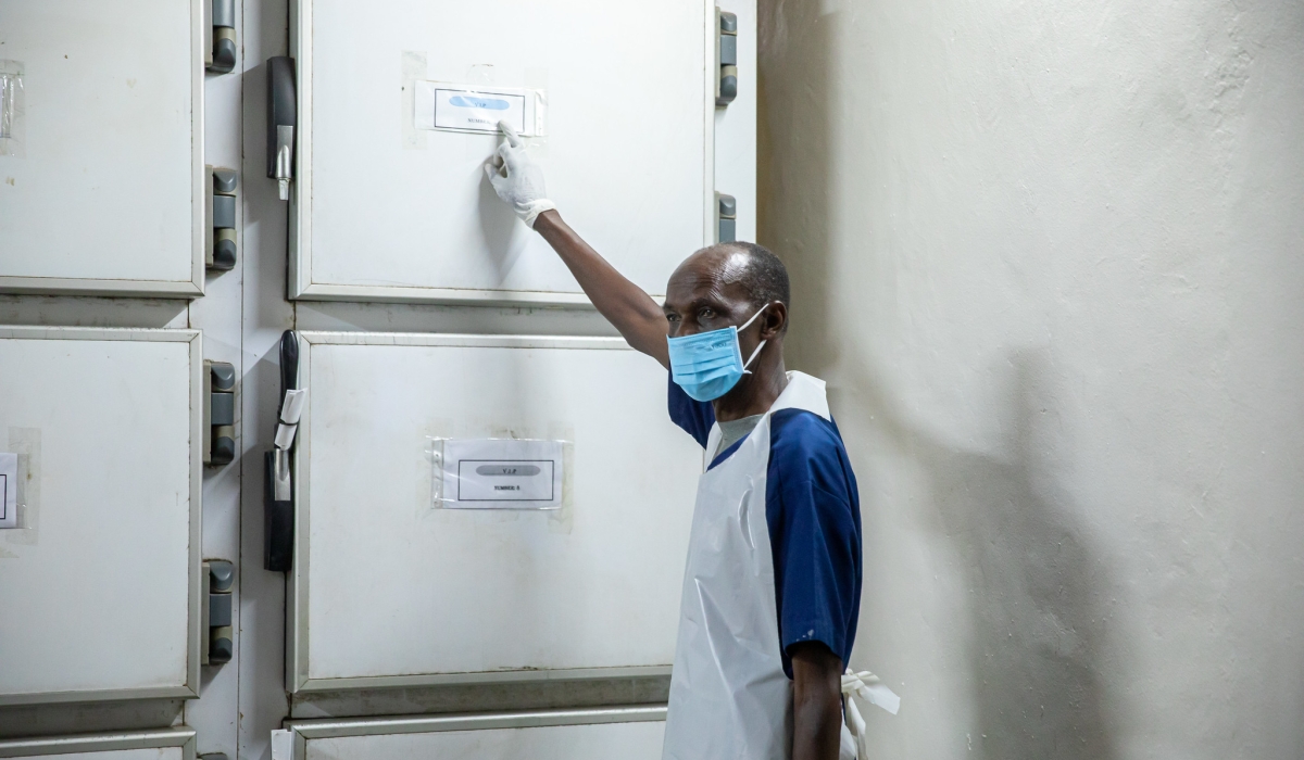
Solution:
<svg viewBox="0 0 1304 760">
<path fill-rule="evenodd" d="M 1118 756 L 1101 677 L 1112 583 L 1077 506 L 1045 464 L 1058 416 L 1041 352 L 1015 352 L 1004 456 L 960 450 L 911 426 L 872 388 L 866 409 L 927 473 L 941 532 L 965 572 L 978 756 Z M 1059 452 L 1063 456 L 1063 452 Z"/>
</svg>

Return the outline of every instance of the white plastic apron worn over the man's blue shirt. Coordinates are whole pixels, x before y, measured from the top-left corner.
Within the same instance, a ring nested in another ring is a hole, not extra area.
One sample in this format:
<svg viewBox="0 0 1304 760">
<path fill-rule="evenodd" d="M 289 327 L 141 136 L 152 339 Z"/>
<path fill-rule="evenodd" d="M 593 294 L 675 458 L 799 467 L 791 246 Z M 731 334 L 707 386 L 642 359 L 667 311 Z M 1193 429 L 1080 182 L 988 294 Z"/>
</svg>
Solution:
<svg viewBox="0 0 1304 760">
<path fill-rule="evenodd" d="M 780 660 L 765 521 L 769 420 L 789 408 L 828 420 L 824 381 L 788 373 L 788 387 L 756 429 L 698 482 L 664 760 L 785 760 L 789 755 L 793 690 Z M 712 426 L 708 458 L 720 435 L 720 425 Z"/>
</svg>

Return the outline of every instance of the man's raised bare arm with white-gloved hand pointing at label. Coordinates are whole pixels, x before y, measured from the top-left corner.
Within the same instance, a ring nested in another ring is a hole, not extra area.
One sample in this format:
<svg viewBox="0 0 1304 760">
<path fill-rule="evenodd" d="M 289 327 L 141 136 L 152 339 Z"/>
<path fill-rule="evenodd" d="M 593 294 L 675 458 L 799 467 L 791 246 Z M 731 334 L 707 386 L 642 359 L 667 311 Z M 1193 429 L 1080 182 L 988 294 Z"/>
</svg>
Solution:
<svg viewBox="0 0 1304 760">
<path fill-rule="evenodd" d="M 666 321 L 661 306 L 643 288 L 618 272 L 574 229 L 562 222 L 544 190 L 542 171 L 526 155 L 524 143 L 507 124 L 499 124 L 503 142 L 485 164 L 498 197 L 539 232 L 579 282 L 584 295 L 635 349 L 670 366 Z"/>
</svg>

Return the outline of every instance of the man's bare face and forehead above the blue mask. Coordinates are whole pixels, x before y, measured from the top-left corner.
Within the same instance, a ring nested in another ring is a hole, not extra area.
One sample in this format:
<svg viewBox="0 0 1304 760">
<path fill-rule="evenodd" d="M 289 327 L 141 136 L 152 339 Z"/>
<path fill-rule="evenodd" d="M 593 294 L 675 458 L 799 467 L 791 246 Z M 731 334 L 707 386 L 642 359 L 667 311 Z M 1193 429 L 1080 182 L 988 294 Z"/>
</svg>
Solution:
<svg viewBox="0 0 1304 760">
<path fill-rule="evenodd" d="M 755 312 L 741 284 L 746 267 L 747 253 L 737 249 L 690 256 L 666 284 L 666 334 L 678 338 L 746 322 Z"/>
</svg>

